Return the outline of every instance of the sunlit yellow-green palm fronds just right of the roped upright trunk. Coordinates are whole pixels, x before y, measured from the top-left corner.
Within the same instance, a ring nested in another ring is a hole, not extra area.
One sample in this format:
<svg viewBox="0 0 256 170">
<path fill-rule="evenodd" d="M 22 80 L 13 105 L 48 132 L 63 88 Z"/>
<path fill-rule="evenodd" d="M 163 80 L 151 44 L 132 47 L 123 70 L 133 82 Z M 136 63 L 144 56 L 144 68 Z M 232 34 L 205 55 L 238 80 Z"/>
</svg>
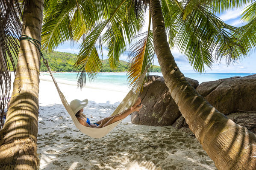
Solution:
<svg viewBox="0 0 256 170">
<path fill-rule="evenodd" d="M 53 1 L 56 0 L 46 1 L 46 6 L 52 4 L 44 11 L 42 27 L 42 48 L 48 52 L 67 40 L 84 40 L 88 31 L 102 17 L 93 0 Z"/>
</svg>

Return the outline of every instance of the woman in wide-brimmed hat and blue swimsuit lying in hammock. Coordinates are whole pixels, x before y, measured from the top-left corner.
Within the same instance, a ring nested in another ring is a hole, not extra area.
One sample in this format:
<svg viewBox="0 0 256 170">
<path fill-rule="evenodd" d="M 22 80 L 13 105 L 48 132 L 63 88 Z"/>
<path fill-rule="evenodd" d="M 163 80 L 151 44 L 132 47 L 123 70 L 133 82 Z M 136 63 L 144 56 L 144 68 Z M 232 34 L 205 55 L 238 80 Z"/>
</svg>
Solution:
<svg viewBox="0 0 256 170">
<path fill-rule="evenodd" d="M 126 118 L 129 114 L 131 114 L 132 112 L 135 111 L 139 111 L 142 108 L 141 104 L 141 98 L 138 97 L 137 101 L 135 102 L 135 104 L 125 110 L 122 113 L 119 113 L 115 116 L 110 116 L 110 117 L 106 117 L 98 122 L 95 123 L 91 123 L 90 119 L 87 118 L 82 112 L 83 112 L 83 108 L 88 104 L 88 99 L 85 99 L 83 101 L 80 101 L 78 99 L 73 100 L 72 102 L 70 102 L 70 106 L 73 110 L 74 113 L 76 113 L 76 117 L 78 119 L 78 121 L 87 127 L 92 127 L 92 128 L 100 128 L 100 127 L 105 127 L 107 125 L 110 125 L 114 122 L 117 122 L 118 120 L 124 119 Z"/>
</svg>

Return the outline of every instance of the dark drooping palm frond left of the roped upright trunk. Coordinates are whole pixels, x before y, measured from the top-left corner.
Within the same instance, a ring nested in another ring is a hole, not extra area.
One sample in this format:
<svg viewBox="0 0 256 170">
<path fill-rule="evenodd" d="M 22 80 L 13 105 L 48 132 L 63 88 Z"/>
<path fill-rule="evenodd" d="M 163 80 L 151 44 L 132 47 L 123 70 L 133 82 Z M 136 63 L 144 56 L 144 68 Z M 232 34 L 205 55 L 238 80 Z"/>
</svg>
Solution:
<svg viewBox="0 0 256 170">
<path fill-rule="evenodd" d="M 21 8 L 18 0 L 0 1 L 0 128 L 3 126 L 3 112 L 11 90 L 12 67 L 19 52 L 21 35 Z M 7 99 L 6 99 L 7 98 Z"/>
</svg>

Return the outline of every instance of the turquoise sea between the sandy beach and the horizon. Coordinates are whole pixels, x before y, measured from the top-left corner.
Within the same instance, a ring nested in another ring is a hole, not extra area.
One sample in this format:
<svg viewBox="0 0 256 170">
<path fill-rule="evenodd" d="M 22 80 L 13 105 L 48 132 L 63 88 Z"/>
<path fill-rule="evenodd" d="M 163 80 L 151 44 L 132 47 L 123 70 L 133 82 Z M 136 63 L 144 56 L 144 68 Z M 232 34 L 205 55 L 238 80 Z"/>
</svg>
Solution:
<svg viewBox="0 0 256 170">
<path fill-rule="evenodd" d="M 235 76 L 248 76 L 252 75 L 250 73 L 183 73 L 185 77 L 189 77 L 191 79 L 196 79 L 199 84 L 201 82 L 213 81 L 218 79 L 224 79 Z M 44 75 L 50 75 L 47 73 L 42 73 Z M 69 85 L 77 85 L 77 73 L 53 73 L 57 82 L 69 84 Z M 150 75 L 159 75 L 162 76 L 162 73 L 150 73 Z M 88 88 L 101 88 L 108 89 L 113 91 L 128 91 L 129 86 L 127 82 L 127 74 L 125 72 L 121 73 L 100 73 L 97 79 L 93 82 L 90 82 L 89 79 L 86 82 L 85 87 Z"/>
</svg>

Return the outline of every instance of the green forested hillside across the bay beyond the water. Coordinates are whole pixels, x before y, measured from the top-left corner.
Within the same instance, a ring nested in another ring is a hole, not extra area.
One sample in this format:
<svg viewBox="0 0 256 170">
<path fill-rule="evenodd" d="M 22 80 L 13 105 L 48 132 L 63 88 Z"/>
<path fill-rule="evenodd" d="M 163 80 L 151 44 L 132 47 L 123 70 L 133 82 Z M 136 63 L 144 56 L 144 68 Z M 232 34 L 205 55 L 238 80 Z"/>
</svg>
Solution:
<svg viewBox="0 0 256 170">
<path fill-rule="evenodd" d="M 58 72 L 76 71 L 76 69 L 73 68 L 73 65 L 75 63 L 77 54 L 53 51 L 50 54 L 44 54 L 44 57 L 48 60 L 52 71 L 58 71 Z M 15 62 L 17 63 L 17 61 Z M 101 72 L 124 72 L 124 71 L 127 71 L 127 68 L 128 68 L 128 62 L 122 61 L 122 60 L 120 60 L 120 64 L 118 65 L 118 68 L 115 70 L 112 70 L 110 68 L 109 61 L 107 59 L 102 60 L 102 65 L 103 65 L 103 68 L 101 69 Z M 48 71 L 46 66 L 42 62 L 42 60 L 41 60 L 40 71 Z M 160 67 L 154 65 L 151 72 L 161 72 Z"/>
</svg>

